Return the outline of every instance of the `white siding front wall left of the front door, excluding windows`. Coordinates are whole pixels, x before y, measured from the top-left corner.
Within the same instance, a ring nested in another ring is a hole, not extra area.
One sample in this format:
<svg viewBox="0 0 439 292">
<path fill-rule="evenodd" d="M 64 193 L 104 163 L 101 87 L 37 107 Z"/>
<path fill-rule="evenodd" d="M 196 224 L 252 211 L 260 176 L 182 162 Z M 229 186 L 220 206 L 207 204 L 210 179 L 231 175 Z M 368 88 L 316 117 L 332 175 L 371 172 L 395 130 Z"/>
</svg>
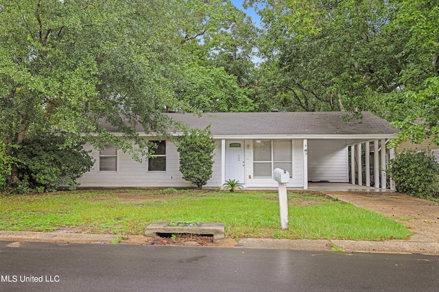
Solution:
<svg viewBox="0 0 439 292">
<path fill-rule="evenodd" d="M 213 175 L 207 186 L 221 186 L 221 143 L 215 141 Z M 92 149 L 86 145 L 86 149 Z M 176 145 L 166 143 L 166 171 L 148 172 L 147 162 L 139 163 L 132 160 L 129 154 L 117 150 L 117 171 L 99 171 L 99 151 L 93 149 L 96 162 L 91 171 L 78 179 L 84 187 L 191 187 L 193 184 L 183 180 L 179 171 L 180 157 Z"/>
</svg>

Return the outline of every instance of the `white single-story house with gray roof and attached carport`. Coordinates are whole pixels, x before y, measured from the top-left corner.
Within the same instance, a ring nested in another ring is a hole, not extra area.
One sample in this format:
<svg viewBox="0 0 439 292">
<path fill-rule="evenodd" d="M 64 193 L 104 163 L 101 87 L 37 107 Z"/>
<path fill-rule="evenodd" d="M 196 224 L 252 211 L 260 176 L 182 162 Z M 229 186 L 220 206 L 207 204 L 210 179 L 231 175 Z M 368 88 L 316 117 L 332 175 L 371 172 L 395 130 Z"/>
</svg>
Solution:
<svg viewBox="0 0 439 292">
<path fill-rule="evenodd" d="M 168 114 L 189 127 L 204 129 L 211 125 L 216 148 L 213 175 L 207 187 L 221 188 L 226 180 L 233 179 L 244 188 L 275 188 L 275 168 L 289 171 L 288 188 L 307 189 L 308 182 L 368 185 L 370 165 L 377 166 L 373 167 L 375 186 L 387 187 L 382 169 L 388 157 L 381 155 L 379 160 L 378 150 L 385 149 L 381 145 L 394 138 L 397 129 L 370 112 L 363 112 L 362 119 L 347 122 L 341 119 L 344 112 L 214 112 L 202 117 Z M 154 136 L 150 139 L 157 140 Z M 78 182 L 84 187 L 193 186 L 182 179 L 176 145 L 157 142 L 155 159 L 146 163 L 132 160 L 112 145 L 100 152 L 93 149 L 95 167 Z M 372 161 L 370 145 L 378 146 Z"/>
</svg>

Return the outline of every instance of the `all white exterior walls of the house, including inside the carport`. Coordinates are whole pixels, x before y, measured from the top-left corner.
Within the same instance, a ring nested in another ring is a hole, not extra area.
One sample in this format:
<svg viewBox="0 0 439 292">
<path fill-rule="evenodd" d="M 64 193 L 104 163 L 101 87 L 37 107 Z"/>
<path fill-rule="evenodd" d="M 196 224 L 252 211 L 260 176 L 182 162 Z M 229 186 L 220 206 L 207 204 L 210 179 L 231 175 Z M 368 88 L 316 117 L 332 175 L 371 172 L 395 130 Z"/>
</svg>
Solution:
<svg viewBox="0 0 439 292">
<path fill-rule="evenodd" d="M 282 139 L 285 141 L 285 139 Z M 242 140 L 241 140 L 242 141 Z M 289 188 L 302 188 L 304 182 L 303 139 L 292 139 L 292 178 Z M 233 142 L 233 139 L 227 140 Z M 308 180 L 348 182 L 348 159 L 344 140 L 308 140 Z M 222 149 L 221 140 L 216 140 L 214 151 L 213 175 L 207 187 L 221 188 Z M 253 141 L 244 141 L 245 152 L 245 188 L 276 188 L 277 182 L 272 178 L 254 178 Z M 87 146 L 86 149 L 91 149 Z M 179 171 L 179 156 L 176 145 L 166 143 L 166 171 L 148 172 L 147 162 L 139 163 L 122 151 L 117 151 L 117 171 L 99 171 L 99 151 L 92 151 L 96 159 L 94 168 L 78 179 L 85 187 L 192 187 L 193 184 L 183 180 Z"/>
</svg>

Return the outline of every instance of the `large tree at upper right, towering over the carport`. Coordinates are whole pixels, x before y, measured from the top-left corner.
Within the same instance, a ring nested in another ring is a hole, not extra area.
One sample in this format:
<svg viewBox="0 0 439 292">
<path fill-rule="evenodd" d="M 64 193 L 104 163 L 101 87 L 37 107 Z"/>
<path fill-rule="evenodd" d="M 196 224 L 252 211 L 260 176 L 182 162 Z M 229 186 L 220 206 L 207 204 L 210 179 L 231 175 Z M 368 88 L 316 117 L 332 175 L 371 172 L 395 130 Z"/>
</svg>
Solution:
<svg viewBox="0 0 439 292">
<path fill-rule="evenodd" d="M 439 8 L 420 0 L 262 3 L 261 93 L 285 110 L 370 110 L 439 145 Z M 266 100 L 263 97 L 263 100 Z"/>
</svg>

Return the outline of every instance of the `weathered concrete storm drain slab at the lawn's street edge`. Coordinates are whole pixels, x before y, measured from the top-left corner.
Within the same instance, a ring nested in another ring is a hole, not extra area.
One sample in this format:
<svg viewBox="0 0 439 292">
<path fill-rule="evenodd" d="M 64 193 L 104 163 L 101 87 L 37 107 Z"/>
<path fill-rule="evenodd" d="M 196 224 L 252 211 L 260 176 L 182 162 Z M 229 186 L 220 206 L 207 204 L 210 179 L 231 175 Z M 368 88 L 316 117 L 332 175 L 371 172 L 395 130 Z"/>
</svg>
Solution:
<svg viewBox="0 0 439 292">
<path fill-rule="evenodd" d="M 153 222 L 147 226 L 145 236 L 158 233 L 190 233 L 213 235 L 213 239 L 224 239 L 224 223 L 171 223 L 169 221 Z"/>
</svg>

